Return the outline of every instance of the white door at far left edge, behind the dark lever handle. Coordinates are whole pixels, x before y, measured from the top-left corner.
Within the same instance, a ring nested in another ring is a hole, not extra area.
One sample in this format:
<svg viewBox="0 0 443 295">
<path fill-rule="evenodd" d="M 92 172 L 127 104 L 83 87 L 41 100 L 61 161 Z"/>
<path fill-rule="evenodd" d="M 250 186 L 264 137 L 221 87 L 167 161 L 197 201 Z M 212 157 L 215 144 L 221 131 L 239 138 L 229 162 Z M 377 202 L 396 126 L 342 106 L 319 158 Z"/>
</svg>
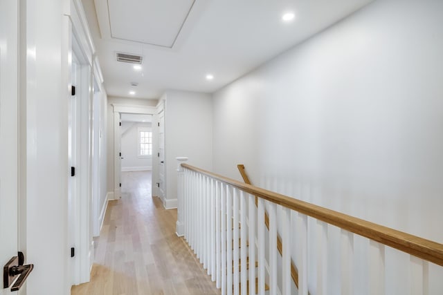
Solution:
<svg viewBox="0 0 443 295">
<path fill-rule="evenodd" d="M 0 0 L 0 266 L 18 251 L 18 1 Z M 32 275 L 32 274 L 31 274 Z M 0 287 L 0 295 L 11 293 Z"/>
</svg>

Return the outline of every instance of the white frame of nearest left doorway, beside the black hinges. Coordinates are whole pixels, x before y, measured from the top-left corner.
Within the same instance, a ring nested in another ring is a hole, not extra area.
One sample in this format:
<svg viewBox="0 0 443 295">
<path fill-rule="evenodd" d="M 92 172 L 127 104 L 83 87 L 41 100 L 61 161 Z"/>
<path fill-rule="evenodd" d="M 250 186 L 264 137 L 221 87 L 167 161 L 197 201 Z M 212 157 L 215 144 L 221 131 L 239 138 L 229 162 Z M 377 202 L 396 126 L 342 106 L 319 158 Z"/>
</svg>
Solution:
<svg viewBox="0 0 443 295">
<path fill-rule="evenodd" d="M 78 58 L 80 70 L 80 81 L 75 89 L 78 99 L 77 124 L 78 142 L 75 143 L 77 151 L 77 162 L 75 166 L 75 177 L 78 177 L 78 190 L 75 198 L 75 208 L 69 208 L 69 214 L 73 214 L 73 225 L 69 231 L 73 233 L 74 245 L 68 240 L 67 249 L 75 248 L 74 257 L 68 257 L 68 265 L 73 263 L 73 269 L 69 273 L 69 285 L 78 285 L 89 282 L 91 277 L 91 267 L 93 263 L 93 238 L 91 221 L 92 218 L 98 218 L 91 214 L 94 200 L 92 198 L 92 163 L 93 163 L 93 118 L 91 111 L 93 109 L 93 82 L 103 82 L 96 59 L 96 49 L 93 46 L 92 37 L 89 32 L 86 15 L 80 0 L 70 0 L 69 17 L 70 32 L 69 36 L 69 71 L 71 71 L 72 57 Z M 72 85 L 71 73 L 69 73 L 69 86 Z M 101 89 L 100 89 L 101 90 Z M 71 97 L 69 97 L 71 99 Z M 98 202 L 98 201 L 97 201 Z M 71 212 L 71 210 L 73 210 Z"/>
</svg>

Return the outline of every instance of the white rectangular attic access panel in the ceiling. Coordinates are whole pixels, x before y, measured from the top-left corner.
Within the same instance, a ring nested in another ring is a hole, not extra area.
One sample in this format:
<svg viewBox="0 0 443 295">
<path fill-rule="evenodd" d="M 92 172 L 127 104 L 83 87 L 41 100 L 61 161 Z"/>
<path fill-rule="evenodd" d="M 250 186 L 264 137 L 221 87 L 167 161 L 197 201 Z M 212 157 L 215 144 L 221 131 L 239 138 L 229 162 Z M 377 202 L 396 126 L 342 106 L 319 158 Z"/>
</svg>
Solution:
<svg viewBox="0 0 443 295">
<path fill-rule="evenodd" d="M 108 0 L 111 37 L 172 48 L 195 0 Z"/>
</svg>

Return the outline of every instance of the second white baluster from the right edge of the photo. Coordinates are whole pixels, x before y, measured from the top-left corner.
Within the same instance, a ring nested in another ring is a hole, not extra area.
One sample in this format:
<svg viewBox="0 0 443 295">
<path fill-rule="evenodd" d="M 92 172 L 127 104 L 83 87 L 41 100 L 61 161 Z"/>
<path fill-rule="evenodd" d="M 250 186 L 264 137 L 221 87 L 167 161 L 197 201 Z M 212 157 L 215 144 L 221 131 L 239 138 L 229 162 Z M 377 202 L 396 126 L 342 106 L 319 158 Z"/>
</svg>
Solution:
<svg viewBox="0 0 443 295">
<path fill-rule="evenodd" d="M 369 242 L 369 289 L 372 295 L 385 294 L 385 246 L 374 240 Z"/>
</svg>

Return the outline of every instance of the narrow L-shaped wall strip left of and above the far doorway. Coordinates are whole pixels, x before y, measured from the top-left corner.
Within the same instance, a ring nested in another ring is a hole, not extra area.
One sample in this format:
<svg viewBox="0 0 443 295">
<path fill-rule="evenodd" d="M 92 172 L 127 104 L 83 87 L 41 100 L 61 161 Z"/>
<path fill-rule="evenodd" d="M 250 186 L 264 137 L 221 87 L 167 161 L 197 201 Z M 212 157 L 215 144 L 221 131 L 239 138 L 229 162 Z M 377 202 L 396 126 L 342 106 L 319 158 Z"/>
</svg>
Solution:
<svg viewBox="0 0 443 295">
<path fill-rule="evenodd" d="M 107 102 L 107 192 L 114 192 L 114 111 L 112 104 L 122 106 L 156 106 L 156 99 L 108 96 Z"/>
</svg>

